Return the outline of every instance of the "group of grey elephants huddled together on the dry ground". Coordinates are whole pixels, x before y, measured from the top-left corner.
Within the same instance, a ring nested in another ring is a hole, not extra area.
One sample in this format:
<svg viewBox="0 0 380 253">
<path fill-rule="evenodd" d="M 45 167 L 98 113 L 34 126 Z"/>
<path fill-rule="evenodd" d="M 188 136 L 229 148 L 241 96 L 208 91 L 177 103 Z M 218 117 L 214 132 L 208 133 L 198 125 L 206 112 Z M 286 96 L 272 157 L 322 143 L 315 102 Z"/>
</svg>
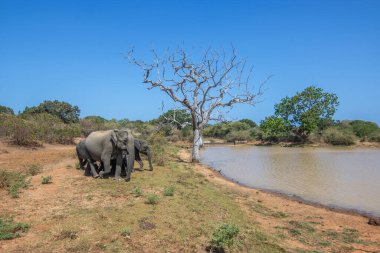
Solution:
<svg viewBox="0 0 380 253">
<path fill-rule="evenodd" d="M 123 176 L 129 181 L 135 160 L 139 163 L 140 170 L 144 167 L 140 154 L 147 155 L 149 170 L 153 170 L 148 142 L 134 139 L 129 129 L 92 132 L 78 143 L 76 152 L 81 169 L 86 171 L 86 175 L 95 178 L 114 174 L 117 180 Z"/>
</svg>

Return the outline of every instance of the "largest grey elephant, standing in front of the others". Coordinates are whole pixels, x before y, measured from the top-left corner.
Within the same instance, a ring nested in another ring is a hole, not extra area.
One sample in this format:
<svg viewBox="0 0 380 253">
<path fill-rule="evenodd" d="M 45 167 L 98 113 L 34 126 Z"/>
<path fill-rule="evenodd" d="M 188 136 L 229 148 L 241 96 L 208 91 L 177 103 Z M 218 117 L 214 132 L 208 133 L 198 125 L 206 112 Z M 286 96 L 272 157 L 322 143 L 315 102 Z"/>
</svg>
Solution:
<svg viewBox="0 0 380 253">
<path fill-rule="evenodd" d="M 129 181 L 133 164 L 135 162 L 135 147 L 132 132 L 129 129 L 114 129 L 108 131 L 95 131 L 87 136 L 85 146 L 88 154 L 95 161 L 103 163 L 104 171 L 99 172 L 100 177 L 111 172 L 111 159 L 116 159 L 115 179 L 120 178 L 123 164 L 123 153 L 127 153 L 127 176 Z"/>
</svg>

